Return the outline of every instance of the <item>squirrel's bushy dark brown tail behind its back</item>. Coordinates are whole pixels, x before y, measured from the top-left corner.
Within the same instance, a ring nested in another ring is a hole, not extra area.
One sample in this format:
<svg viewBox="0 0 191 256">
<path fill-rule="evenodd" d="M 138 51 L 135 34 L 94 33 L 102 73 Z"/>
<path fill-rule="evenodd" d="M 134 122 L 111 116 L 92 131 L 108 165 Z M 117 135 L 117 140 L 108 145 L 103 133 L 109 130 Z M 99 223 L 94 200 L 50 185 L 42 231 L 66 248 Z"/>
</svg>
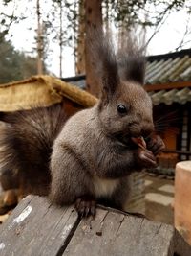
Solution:
<svg viewBox="0 0 191 256">
<path fill-rule="evenodd" d="M 53 141 L 66 121 L 61 105 L 21 110 L 3 116 L 0 172 L 12 171 L 25 194 L 46 195 L 51 181 Z"/>
</svg>

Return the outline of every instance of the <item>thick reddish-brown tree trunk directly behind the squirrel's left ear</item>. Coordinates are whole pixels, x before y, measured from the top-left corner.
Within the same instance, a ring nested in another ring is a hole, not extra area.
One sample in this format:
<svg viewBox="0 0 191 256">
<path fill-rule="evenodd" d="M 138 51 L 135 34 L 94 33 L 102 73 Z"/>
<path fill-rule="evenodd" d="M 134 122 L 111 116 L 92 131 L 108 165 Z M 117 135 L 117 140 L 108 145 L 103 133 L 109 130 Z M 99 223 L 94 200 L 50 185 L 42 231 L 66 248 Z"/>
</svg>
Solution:
<svg viewBox="0 0 191 256">
<path fill-rule="evenodd" d="M 90 27 L 102 26 L 102 9 L 101 0 L 85 0 L 85 18 L 86 18 L 86 32 L 90 30 Z M 91 51 L 90 44 L 85 39 L 85 59 L 86 59 L 86 88 L 87 91 L 98 97 L 100 88 L 96 82 L 96 78 L 93 72 L 93 66 L 91 64 Z"/>
</svg>

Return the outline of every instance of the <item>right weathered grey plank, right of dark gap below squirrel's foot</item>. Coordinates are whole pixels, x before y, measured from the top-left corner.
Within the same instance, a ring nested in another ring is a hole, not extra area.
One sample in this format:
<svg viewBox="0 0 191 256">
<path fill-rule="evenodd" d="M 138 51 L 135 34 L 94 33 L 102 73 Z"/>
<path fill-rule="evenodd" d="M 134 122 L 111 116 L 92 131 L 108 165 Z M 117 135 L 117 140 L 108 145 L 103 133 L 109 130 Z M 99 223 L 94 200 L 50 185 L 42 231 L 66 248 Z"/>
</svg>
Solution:
<svg viewBox="0 0 191 256">
<path fill-rule="evenodd" d="M 167 224 L 98 210 L 96 220 L 79 223 L 63 255 L 173 256 L 179 251 L 179 255 L 190 256 L 191 247 L 175 233 Z"/>
</svg>

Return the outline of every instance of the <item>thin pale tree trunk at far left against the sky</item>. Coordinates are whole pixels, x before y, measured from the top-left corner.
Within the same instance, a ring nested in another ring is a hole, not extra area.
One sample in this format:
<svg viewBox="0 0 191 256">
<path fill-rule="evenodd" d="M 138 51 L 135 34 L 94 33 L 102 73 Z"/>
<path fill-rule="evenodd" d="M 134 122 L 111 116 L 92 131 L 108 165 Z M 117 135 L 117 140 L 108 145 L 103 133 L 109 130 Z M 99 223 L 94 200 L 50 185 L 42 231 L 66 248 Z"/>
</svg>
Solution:
<svg viewBox="0 0 191 256">
<path fill-rule="evenodd" d="M 40 20 L 40 0 L 36 1 L 36 15 L 37 15 L 37 73 L 43 74 L 43 38 L 42 25 Z"/>
</svg>

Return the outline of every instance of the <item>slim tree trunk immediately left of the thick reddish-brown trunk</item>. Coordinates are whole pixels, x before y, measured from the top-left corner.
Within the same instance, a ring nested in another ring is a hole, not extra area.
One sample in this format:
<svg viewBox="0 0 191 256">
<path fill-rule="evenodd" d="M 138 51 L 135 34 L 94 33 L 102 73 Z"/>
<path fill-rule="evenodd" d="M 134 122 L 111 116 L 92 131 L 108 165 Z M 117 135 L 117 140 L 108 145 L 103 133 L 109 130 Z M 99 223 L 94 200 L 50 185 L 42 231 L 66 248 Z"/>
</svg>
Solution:
<svg viewBox="0 0 191 256">
<path fill-rule="evenodd" d="M 79 1 L 78 6 L 78 30 L 77 45 L 75 49 L 75 73 L 85 74 L 85 10 L 84 0 Z"/>
</svg>

